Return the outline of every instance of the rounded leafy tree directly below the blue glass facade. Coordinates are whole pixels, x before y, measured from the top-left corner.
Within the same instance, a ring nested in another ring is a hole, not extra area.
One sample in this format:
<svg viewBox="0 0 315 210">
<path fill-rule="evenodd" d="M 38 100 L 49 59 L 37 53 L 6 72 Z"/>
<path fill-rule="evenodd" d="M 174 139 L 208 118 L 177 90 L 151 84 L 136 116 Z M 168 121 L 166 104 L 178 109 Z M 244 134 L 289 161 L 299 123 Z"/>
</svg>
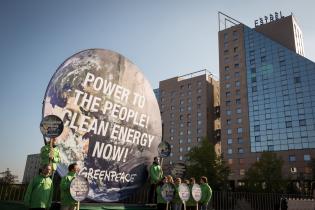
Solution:
<svg viewBox="0 0 315 210">
<path fill-rule="evenodd" d="M 252 192 L 284 192 L 287 181 L 282 176 L 283 160 L 275 153 L 263 152 L 245 173 L 245 189 Z"/>
</svg>

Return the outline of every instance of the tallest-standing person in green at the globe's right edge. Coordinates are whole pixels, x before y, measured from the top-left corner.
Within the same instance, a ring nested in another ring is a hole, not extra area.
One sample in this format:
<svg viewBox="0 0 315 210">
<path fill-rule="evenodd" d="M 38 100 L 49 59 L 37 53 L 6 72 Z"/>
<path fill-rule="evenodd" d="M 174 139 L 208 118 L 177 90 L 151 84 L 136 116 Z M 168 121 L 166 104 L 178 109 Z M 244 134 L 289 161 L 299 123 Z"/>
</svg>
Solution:
<svg viewBox="0 0 315 210">
<path fill-rule="evenodd" d="M 163 178 L 163 171 L 160 166 L 160 160 L 158 157 L 154 158 L 152 165 L 150 166 L 149 170 L 150 175 L 150 190 L 149 190 L 149 203 L 156 203 L 156 185 L 159 181 Z"/>
</svg>

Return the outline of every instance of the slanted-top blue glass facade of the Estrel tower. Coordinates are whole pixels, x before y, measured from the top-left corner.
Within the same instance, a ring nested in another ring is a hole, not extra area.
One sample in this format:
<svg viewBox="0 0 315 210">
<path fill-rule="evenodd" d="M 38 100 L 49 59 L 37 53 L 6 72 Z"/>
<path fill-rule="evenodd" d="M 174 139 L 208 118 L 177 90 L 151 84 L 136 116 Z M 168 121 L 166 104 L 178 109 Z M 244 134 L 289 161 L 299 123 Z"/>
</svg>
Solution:
<svg viewBox="0 0 315 210">
<path fill-rule="evenodd" d="M 251 152 L 315 148 L 315 63 L 244 26 Z"/>
</svg>

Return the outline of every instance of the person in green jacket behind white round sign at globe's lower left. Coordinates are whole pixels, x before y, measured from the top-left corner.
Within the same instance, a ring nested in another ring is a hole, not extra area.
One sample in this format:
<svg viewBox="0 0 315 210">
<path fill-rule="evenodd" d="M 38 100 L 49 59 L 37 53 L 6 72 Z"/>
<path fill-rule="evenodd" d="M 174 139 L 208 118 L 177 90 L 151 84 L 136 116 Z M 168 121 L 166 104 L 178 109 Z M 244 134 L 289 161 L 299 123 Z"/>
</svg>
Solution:
<svg viewBox="0 0 315 210">
<path fill-rule="evenodd" d="M 76 173 L 78 173 L 79 170 L 79 166 L 76 163 L 70 164 L 68 167 L 68 174 L 61 179 L 61 210 L 74 210 L 76 207 L 76 201 L 72 198 L 70 194 L 70 184 L 71 181 L 76 177 Z"/>
</svg>

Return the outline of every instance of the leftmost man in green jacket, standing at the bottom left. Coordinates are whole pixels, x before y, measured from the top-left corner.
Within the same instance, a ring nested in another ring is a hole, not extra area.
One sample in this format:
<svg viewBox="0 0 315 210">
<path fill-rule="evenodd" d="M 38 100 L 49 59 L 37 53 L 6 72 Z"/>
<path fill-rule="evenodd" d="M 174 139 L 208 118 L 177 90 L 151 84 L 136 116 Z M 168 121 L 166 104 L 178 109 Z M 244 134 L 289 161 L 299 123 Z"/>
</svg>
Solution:
<svg viewBox="0 0 315 210">
<path fill-rule="evenodd" d="M 24 204 L 30 209 L 48 209 L 51 206 L 53 196 L 53 183 L 50 176 L 51 166 L 43 165 L 41 173 L 35 176 L 29 183 Z"/>
</svg>

